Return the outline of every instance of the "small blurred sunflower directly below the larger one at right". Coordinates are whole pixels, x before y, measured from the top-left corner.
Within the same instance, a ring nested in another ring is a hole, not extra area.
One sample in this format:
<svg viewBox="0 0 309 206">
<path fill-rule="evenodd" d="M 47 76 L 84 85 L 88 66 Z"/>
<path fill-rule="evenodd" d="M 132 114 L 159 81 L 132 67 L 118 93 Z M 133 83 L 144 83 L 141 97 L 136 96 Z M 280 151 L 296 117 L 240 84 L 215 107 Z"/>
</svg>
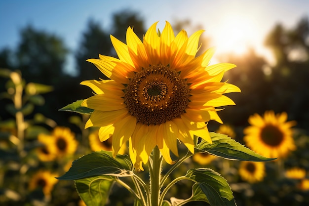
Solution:
<svg viewBox="0 0 309 206">
<path fill-rule="evenodd" d="M 262 181 L 265 176 L 265 164 L 263 162 L 241 162 L 239 175 L 249 183 Z"/>
</svg>

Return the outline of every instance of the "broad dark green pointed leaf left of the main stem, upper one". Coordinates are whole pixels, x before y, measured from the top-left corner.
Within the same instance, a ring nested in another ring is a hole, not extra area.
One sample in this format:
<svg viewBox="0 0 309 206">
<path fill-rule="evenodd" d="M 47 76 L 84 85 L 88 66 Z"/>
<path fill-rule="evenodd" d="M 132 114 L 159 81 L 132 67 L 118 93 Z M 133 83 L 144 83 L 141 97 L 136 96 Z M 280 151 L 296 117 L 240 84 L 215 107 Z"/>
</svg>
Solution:
<svg viewBox="0 0 309 206">
<path fill-rule="evenodd" d="M 117 155 L 114 159 L 112 152 L 94 152 L 75 160 L 69 171 L 58 179 L 77 180 L 97 175 L 130 176 L 132 168 L 128 156 Z"/>
</svg>

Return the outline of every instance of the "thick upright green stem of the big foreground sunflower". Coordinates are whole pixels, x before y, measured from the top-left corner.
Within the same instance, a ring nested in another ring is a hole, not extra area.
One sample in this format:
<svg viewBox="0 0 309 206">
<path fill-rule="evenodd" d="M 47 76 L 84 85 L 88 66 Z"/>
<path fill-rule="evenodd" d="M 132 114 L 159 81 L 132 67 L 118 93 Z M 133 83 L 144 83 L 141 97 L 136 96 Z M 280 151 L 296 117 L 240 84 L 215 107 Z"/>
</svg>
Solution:
<svg viewBox="0 0 309 206">
<path fill-rule="evenodd" d="M 151 206 L 159 206 L 159 198 L 160 198 L 160 179 L 161 179 L 161 165 L 162 158 L 160 158 L 159 148 L 156 146 L 153 150 L 153 155 L 150 157 L 151 166 L 149 167 L 150 174 L 150 199 Z"/>
</svg>

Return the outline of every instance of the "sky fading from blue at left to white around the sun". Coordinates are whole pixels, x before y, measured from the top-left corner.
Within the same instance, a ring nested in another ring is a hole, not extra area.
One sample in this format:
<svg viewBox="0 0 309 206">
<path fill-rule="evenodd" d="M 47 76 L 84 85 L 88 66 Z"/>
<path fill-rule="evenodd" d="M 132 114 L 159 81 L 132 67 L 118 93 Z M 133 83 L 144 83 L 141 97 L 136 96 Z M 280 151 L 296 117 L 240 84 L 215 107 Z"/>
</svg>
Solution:
<svg viewBox="0 0 309 206">
<path fill-rule="evenodd" d="M 189 19 L 206 30 L 219 53 L 241 53 L 250 45 L 267 54 L 265 35 L 276 23 L 291 28 L 309 16 L 309 0 L 0 0 L 0 49 L 14 48 L 19 30 L 31 24 L 74 50 L 89 18 L 109 28 L 112 14 L 122 9 L 139 12 L 147 28 L 155 21 L 163 29 L 165 20 Z"/>
</svg>

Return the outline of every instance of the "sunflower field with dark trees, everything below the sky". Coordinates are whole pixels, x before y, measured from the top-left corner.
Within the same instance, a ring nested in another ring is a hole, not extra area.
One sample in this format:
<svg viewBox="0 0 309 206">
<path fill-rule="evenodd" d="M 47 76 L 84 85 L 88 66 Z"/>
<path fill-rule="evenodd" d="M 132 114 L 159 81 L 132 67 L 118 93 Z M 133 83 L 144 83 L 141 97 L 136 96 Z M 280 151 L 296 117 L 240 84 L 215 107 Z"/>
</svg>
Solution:
<svg viewBox="0 0 309 206">
<path fill-rule="evenodd" d="M 0 48 L 0 205 L 309 205 L 308 18 L 265 37 L 273 65 L 144 24 L 89 21 L 75 76 L 31 26 Z"/>
</svg>

